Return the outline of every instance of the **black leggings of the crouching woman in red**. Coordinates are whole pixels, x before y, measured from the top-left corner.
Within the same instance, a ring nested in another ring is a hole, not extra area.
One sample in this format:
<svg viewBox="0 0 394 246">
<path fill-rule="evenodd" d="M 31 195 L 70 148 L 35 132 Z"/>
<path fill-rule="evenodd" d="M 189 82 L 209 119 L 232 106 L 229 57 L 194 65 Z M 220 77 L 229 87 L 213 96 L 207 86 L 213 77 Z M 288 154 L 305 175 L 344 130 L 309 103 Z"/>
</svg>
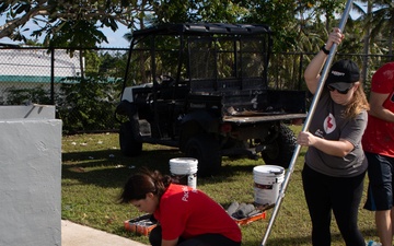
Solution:
<svg viewBox="0 0 394 246">
<path fill-rule="evenodd" d="M 161 226 L 154 227 L 150 235 L 149 242 L 152 246 L 161 246 Z M 202 234 L 188 239 L 179 238 L 178 246 L 240 246 L 241 243 L 236 243 L 220 234 Z"/>
</svg>

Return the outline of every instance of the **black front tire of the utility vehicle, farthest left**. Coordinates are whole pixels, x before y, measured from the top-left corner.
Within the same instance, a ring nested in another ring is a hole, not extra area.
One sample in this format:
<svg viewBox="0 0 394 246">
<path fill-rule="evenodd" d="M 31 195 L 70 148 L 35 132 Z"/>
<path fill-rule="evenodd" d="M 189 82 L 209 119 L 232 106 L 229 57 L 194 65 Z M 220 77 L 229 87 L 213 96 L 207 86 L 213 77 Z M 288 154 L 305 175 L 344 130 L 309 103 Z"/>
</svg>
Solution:
<svg viewBox="0 0 394 246">
<path fill-rule="evenodd" d="M 126 121 L 120 125 L 119 145 L 125 156 L 137 156 L 142 152 L 142 142 L 136 140 L 134 127 L 136 126 L 134 126 L 131 121 Z"/>
</svg>

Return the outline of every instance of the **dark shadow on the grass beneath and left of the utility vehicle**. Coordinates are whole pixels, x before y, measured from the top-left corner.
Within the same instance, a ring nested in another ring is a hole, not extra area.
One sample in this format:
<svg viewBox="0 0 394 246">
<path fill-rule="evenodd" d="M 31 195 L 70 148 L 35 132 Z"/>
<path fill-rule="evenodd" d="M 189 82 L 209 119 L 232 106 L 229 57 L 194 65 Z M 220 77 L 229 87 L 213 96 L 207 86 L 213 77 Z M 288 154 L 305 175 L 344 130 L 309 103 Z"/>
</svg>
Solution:
<svg viewBox="0 0 394 246">
<path fill-rule="evenodd" d="M 119 150 L 84 151 L 62 154 L 62 178 L 101 187 L 123 186 L 128 176 L 140 167 L 158 169 L 170 175 L 169 161 L 184 156 L 175 149 L 143 151 L 141 155 L 127 157 Z M 263 161 L 260 162 L 263 164 Z M 223 164 L 220 174 L 198 177 L 199 184 L 231 181 L 233 175 L 252 174 L 255 164 Z M 69 185 L 67 183 L 65 186 Z"/>
</svg>

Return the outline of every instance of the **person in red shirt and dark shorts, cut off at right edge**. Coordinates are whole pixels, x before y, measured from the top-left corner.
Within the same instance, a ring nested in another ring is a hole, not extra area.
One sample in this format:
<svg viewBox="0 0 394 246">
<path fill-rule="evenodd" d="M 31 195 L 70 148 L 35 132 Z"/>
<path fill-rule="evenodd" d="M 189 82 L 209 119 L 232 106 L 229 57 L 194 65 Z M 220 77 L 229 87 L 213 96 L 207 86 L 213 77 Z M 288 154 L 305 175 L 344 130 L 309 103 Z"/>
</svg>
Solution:
<svg viewBox="0 0 394 246">
<path fill-rule="evenodd" d="M 362 147 L 368 159 L 368 199 L 364 209 L 375 211 L 383 246 L 393 245 L 394 233 L 394 62 L 372 75 L 371 109 Z"/>
</svg>

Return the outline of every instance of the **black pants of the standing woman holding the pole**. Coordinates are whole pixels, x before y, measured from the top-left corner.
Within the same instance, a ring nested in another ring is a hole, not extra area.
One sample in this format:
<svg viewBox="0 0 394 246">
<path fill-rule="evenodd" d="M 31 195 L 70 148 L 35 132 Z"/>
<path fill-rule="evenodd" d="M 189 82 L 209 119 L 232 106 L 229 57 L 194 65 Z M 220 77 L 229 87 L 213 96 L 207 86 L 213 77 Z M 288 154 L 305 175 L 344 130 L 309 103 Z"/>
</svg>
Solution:
<svg viewBox="0 0 394 246">
<path fill-rule="evenodd" d="M 312 244 L 329 246 L 332 211 L 347 246 L 364 246 L 357 216 L 366 173 L 356 177 L 331 177 L 311 169 L 306 164 L 302 181 L 312 220 Z"/>
</svg>

